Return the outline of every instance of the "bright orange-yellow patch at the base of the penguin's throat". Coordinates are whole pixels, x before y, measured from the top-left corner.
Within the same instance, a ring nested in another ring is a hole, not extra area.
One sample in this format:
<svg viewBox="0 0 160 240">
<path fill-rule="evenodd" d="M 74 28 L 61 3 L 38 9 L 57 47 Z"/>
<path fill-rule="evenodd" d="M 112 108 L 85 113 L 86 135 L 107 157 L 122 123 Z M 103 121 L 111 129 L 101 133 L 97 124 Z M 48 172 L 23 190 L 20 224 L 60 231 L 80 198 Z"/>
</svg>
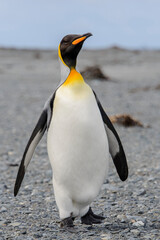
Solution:
<svg viewBox="0 0 160 240">
<path fill-rule="evenodd" d="M 76 71 L 75 68 L 72 68 L 66 81 L 63 83 L 64 86 L 74 83 L 83 83 L 84 79 L 82 75 Z"/>
</svg>

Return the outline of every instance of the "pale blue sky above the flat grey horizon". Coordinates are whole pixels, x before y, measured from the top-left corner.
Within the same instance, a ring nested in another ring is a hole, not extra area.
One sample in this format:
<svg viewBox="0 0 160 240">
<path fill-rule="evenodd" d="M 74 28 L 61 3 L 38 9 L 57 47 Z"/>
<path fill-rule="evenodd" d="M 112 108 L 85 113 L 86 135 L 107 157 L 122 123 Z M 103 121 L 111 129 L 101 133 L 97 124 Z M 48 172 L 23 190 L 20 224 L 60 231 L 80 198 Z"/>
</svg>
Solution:
<svg viewBox="0 0 160 240">
<path fill-rule="evenodd" d="M 159 0 L 0 0 L 0 46 L 57 48 L 68 33 L 92 32 L 86 48 L 160 48 Z"/>
</svg>

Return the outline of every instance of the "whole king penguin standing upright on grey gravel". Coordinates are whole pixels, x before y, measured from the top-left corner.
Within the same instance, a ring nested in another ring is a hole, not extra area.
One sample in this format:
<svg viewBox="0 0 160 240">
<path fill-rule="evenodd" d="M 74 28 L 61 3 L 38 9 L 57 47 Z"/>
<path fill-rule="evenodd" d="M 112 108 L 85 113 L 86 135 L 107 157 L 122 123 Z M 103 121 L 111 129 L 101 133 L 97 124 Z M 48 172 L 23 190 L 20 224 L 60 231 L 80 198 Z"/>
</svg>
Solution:
<svg viewBox="0 0 160 240">
<path fill-rule="evenodd" d="M 120 138 L 95 92 L 76 70 L 84 41 L 92 36 L 67 35 L 60 42 L 61 82 L 45 103 L 24 151 L 14 188 L 16 196 L 34 150 L 47 130 L 47 149 L 53 170 L 53 188 L 61 226 L 72 227 L 104 219 L 90 205 L 108 173 L 109 153 L 122 181 L 128 177 Z"/>
</svg>

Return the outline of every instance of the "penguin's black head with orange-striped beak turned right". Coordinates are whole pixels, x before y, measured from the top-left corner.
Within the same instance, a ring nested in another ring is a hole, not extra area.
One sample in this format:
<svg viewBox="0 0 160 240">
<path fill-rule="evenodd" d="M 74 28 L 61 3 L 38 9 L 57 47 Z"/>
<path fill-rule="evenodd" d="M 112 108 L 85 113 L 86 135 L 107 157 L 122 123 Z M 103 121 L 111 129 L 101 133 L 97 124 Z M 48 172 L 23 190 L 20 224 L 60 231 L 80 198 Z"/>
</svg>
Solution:
<svg viewBox="0 0 160 240">
<path fill-rule="evenodd" d="M 64 65 L 69 68 L 75 68 L 78 53 L 84 41 L 90 36 L 92 36 L 91 33 L 85 33 L 83 35 L 70 34 L 62 39 L 59 44 L 58 55 Z"/>
</svg>

